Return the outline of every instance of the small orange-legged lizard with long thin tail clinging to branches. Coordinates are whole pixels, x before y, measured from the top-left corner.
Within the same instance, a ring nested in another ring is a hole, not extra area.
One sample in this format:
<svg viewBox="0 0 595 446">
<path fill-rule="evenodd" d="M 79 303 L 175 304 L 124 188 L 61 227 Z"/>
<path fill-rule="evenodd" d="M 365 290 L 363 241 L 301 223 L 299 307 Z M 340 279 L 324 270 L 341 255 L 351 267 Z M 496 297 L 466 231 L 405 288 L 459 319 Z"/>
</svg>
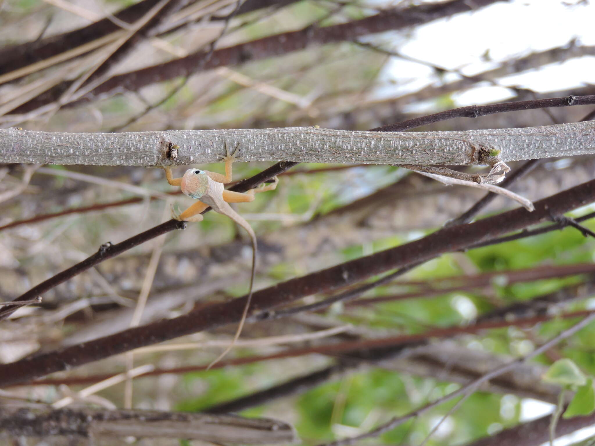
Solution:
<svg viewBox="0 0 595 446">
<path fill-rule="evenodd" d="M 186 211 L 180 213 L 180 215 L 173 214 L 173 218 L 189 222 L 202 221 L 203 216 L 201 215 L 201 212 L 210 206 L 213 211 L 228 216 L 244 228 L 250 235 L 250 240 L 252 240 L 252 274 L 250 275 L 250 290 L 248 291 L 248 300 L 246 300 L 246 306 L 242 313 L 242 319 L 240 319 L 240 325 L 237 327 L 236 335 L 234 336 L 233 341 L 231 341 L 231 344 L 209 365 L 208 368 L 211 368 L 215 363 L 219 362 L 221 358 L 226 356 L 228 351 L 230 351 L 236 343 L 237 338 L 240 337 L 244 322 L 246 321 L 246 316 L 248 315 L 248 308 L 250 306 L 250 300 L 252 299 L 252 287 L 254 284 L 256 252 L 258 249 L 256 246 L 256 235 L 248 222 L 234 211 L 228 203 L 253 202 L 255 193 L 274 190 L 278 183 L 278 179 L 275 177 L 274 183 L 269 184 L 268 186 L 261 186 L 258 189 L 250 189 L 246 193 L 225 190 L 223 185 L 231 183 L 231 164 L 235 161 L 239 144 L 236 146 L 233 153 L 229 152 L 227 143 L 225 147 L 227 156 L 217 155 L 225 162 L 225 175 L 218 174 L 217 172 L 209 172 L 208 170 L 188 169 L 183 177 L 173 178 L 173 175 L 171 174 L 171 166 L 162 164 L 162 168 L 165 169 L 167 182 L 170 183 L 171 186 L 180 186 L 182 193 L 193 199 L 199 200 L 186 209 Z"/>
</svg>

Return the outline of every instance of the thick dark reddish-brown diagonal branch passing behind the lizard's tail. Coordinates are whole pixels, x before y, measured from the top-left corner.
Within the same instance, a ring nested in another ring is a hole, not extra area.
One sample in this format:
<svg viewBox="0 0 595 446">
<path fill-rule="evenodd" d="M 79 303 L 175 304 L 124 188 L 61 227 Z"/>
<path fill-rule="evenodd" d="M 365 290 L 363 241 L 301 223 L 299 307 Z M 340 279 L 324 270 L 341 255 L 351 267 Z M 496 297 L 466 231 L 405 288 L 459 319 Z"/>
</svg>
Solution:
<svg viewBox="0 0 595 446">
<path fill-rule="evenodd" d="M 480 222 L 444 228 L 427 237 L 360 257 L 303 277 L 290 279 L 256 291 L 252 296 L 252 315 L 286 305 L 316 293 L 325 293 L 365 280 L 390 269 L 403 268 L 437 255 L 465 249 L 472 244 L 520 230 L 595 201 L 595 180 L 560 192 L 535 203 L 536 210 L 514 209 Z M 167 225 L 167 222 L 164 224 Z M 25 296 L 25 295 L 24 295 Z M 23 298 L 23 299 L 28 299 Z M 145 347 L 183 335 L 236 323 L 242 317 L 247 296 L 226 303 L 212 304 L 186 315 L 149 325 L 127 329 L 117 334 L 0 366 L 0 385 L 29 381 Z M 252 318 L 250 318 L 252 319 Z"/>
</svg>

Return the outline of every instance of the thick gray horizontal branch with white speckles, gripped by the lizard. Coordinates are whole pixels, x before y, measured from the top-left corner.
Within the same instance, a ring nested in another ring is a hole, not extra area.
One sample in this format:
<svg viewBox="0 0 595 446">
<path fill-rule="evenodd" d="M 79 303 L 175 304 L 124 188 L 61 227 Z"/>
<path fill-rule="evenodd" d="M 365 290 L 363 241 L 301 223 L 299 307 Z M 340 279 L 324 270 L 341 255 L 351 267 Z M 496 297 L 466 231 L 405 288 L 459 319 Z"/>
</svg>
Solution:
<svg viewBox="0 0 595 446">
<path fill-rule="evenodd" d="M 201 164 L 241 143 L 242 161 L 368 164 L 491 164 L 595 153 L 595 124 L 499 130 L 374 132 L 315 127 L 170 130 L 142 133 L 49 133 L 0 130 L 0 162 L 156 166 L 169 143 L 176 164 Z M 496 151 L 496 152 L 494 152 Z"/>
</svg>

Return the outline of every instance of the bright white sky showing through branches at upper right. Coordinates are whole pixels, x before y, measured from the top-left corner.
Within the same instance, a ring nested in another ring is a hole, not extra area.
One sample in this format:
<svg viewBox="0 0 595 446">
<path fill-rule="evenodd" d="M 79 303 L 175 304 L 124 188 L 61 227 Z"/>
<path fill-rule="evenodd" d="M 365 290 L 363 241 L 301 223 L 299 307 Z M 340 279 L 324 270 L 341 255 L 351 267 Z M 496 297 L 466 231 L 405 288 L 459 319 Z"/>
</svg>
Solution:
<svg viewBox="0 0 595 446">
<path fill-rule="evenodd" d="M 578 0 L 566 2 L 571 5 L 564 3 L 562 0 L 501 2 L 416 27 L 410 36 L 390 32 L 377 34 L 367 42 L 472 75 L 496 68 L 506 59 L 563 46 L 572 39 L 577 39 L 577 45 L 595 45 L 595 5 L 578 4 Z M 447 73 L 443 81 L 459 78 L 455 73 Z M 375 90 L 375 98 L 399 96 L 441 83 L 431 67 L 397 57 L 389 59 L 379 80 L 384 85 Z M 452 95 L 455 106 L 506 100 L 515 95 L 506 86 L 551 92 L 595 84 L 595 57 L 545 65 L 538 70 L 502 78 L 498 83 L 502 87 L 486 82 Z M 435 109 L 433 103 L 418 103 L 403 111 L 433 112 Z"/>
</svg>

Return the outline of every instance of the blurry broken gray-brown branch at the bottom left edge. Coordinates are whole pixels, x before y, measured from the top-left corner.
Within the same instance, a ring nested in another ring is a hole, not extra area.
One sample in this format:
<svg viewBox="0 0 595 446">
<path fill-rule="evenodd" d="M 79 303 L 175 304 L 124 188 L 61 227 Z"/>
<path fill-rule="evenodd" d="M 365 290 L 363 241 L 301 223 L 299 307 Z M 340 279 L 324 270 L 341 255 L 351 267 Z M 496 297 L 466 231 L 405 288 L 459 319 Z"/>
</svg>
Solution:
<svg viewBox="0 0 595 446">
<path fill-rule="evenodd" d="M 293 427 L 270 418 L 158 412 L 156 410 L 54 409 L 45 404 L 0 407 L 0 426 L 12 435 L 137 436 L 240 444 L 297 441 Z"/>
</svg>

